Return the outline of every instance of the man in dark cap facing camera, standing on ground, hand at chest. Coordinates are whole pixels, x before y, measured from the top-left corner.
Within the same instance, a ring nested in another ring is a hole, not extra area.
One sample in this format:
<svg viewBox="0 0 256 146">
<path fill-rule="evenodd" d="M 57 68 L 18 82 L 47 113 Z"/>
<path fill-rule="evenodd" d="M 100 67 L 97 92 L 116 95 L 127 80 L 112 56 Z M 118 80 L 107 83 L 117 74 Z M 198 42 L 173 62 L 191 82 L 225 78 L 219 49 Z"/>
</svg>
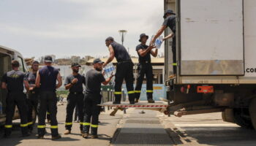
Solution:
<svg viewBox="0 0 256 146">
<path fill-rule="evenodd" d="M 80 120 L 80 131 L 83 131 L 83 84 L 86 84 L 86 78 L 79 74 L 79 67 L 77 63 L 71 65 L 72 74 L 67 76 L 65 80 L 65 88 L 69 89 L 69 95 L 67 96 L 67 116 L 64 134 L 70 134 L 72 128 L 72 117 L 76 106 L 78 106 L 78 117 Z"/>
</svg>

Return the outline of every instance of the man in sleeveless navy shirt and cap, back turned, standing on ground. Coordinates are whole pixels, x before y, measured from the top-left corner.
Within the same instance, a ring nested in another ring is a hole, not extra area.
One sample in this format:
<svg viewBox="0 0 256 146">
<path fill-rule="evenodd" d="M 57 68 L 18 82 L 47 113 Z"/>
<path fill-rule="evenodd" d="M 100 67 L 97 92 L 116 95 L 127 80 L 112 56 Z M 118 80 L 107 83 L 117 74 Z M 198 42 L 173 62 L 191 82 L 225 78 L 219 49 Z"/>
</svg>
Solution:
<svg viewBox="0 0 256 146">
<path fill-rule="evenodd" d="M 57 97 L 56 89 L 61 87 L 61 74 L 58 69 L 53 68 L 53 58 L 45 56 L 45 66 L 37 72 L 36 86 L 39 88 L 38 101 L 38 138 L 43 139 L 45 135 L 45 115 L 47 108 L 50 112 L 50 131 L 52 139 L 60 139 L 58 132 L 57 115 Z M 56 85 L 56 80 L 58 84 Z"/>
</svg>

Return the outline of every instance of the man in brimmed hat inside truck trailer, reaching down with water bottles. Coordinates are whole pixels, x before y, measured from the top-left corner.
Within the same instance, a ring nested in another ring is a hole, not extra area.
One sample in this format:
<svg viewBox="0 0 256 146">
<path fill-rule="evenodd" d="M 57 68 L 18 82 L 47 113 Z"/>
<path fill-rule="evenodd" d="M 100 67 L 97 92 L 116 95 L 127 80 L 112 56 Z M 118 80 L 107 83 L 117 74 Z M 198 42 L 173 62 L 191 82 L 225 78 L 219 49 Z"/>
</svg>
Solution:
<svg viewBox="0 0 256 146">
<path fill-rule="evenodd" d="M 167 9 L 164 15 L 165 21 L 162 23 L 162 27 L 157 31 L 157 34 L 151 41 L 151 44 L 154 44 L 157 37 L 159 37 L 164 31 L 165 28 L 169 27 L 173 33 L 164 37 L 163 41 L 173 37 L 173 44 L 172 44 L 172 52 L 173 52 L 173 77 L 176 76 L 177 73 L 177 63 L 176 63 L 176 14 L 173 12 L 172 9 Z"/>
</svg>

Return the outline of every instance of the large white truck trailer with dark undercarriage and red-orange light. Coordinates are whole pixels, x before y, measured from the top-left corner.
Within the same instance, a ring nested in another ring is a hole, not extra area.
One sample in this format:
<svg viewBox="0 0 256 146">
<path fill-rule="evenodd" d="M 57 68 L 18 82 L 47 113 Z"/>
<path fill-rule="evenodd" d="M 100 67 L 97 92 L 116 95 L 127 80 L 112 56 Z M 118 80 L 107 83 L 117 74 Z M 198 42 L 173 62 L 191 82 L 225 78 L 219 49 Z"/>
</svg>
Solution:
<svg viewBox="0 0 256 146">
<path fill-rule="evenodd" d="M 256 128 L 256 1 L 165 0 L 165 9 L 176 11 L 177 53 L 165 42 L 170 114 L 222 112 Z M 178 72 L 170 79 L 173 55 Z"/>
</svg>

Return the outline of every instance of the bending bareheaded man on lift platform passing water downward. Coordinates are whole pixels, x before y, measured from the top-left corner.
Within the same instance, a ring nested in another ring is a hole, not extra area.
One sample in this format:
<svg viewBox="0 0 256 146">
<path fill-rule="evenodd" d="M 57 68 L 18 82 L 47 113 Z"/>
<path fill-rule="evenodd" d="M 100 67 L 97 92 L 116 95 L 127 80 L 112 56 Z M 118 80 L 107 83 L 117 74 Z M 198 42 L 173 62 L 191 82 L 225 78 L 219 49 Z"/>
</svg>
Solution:
<svg viewBox="0 0 256 146">
<path fill-rule="evenodd" d="M 129 53 L 125 49 L 123 45 L 118 44 L 114 41 L 113 37 L 108 37 L 105 40 L 105 44 L 110 51 L 110 57 L 108 61 L 103 64 L 103 68 L 113 61 L 113 58 L 116 57 L 117 66 L 116 66 L 116 74 L 115 74 L 115 101 L 113 104 L 121 104 L 121 85 L 125 80 L 127 84 L 127 92 L 129 96 L 129 103 L 135 104 L 135 91 L 133 88 L 133 66 L 132 59 L 129 56 Z"/>
</svg>

